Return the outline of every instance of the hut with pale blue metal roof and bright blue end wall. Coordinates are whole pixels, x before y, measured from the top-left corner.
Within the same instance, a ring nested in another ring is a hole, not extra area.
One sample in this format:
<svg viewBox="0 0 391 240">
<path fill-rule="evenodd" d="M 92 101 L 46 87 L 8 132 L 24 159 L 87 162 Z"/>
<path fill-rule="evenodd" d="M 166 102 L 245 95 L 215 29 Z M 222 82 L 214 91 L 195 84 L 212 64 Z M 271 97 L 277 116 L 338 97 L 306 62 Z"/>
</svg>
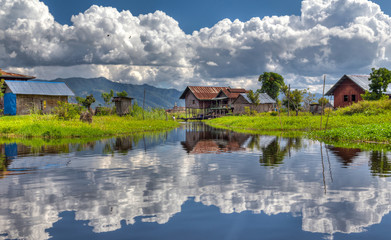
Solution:
<svg viewBox="0 0 391 240">
<path fill-rule="evenodd" d="M 58 102 L 68 102 L 74 96 L 63 82 L 5 81 L 4 114 L 23 115 L 31 111 L 51 113 Z"/>
</svg>

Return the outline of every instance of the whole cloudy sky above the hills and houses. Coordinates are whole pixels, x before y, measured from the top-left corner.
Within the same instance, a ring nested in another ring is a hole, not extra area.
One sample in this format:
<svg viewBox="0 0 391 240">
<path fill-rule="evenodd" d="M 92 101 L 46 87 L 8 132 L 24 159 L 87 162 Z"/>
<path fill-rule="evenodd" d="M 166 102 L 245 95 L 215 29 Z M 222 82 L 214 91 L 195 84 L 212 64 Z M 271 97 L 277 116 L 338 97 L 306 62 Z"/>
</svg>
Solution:
<svg viewBox="0 0 391 240">
<path fill-rule="evenodd" d="M 0 0 L 0 68 L 183 90 L 260 88 L 277 72 L 321 92 L 391 68 L 386 0 Z"/>
</svg>

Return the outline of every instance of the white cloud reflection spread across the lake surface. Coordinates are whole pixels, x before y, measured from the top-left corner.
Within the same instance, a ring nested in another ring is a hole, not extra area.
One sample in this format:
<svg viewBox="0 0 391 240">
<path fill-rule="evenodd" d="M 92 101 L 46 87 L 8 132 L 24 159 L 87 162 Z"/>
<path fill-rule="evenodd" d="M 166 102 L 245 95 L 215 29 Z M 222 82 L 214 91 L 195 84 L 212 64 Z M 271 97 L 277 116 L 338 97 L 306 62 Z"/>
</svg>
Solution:
<svg viewBox="0 0 391 240">
<path fill-rule="evenodd" d="M 262 137 L 259 146 L 273 140 Z M 282 148 L 288 144 L 279 141 Z M 164 224 L 190 197 L 226 214 L 290 213 L 301 216 L 304 231 L 330 235 L 362 232 L 389 214 L 391 183 L 369 176 L 366 153 L 348 169 L 330 153 L 334 181 L 326 173 L 325 194 L 319 145 L 302 145 L 275 168 L 259 166 L 258 150 L 241 151 L 231 159 L 235 153 L 187 154 L 179 144 L 127 154 L 17 158 L 10 168 L 44 169 L 53 163 L 58 168 L 1 179 L 1 233 L 7 238 L 47 239 L 45 230 L 64 211 L 74 211 L 76 220 L 88 221 L 98 233 L 121 228 L 123 220 L 134 224 L 136 217 Z"/>
</svg>

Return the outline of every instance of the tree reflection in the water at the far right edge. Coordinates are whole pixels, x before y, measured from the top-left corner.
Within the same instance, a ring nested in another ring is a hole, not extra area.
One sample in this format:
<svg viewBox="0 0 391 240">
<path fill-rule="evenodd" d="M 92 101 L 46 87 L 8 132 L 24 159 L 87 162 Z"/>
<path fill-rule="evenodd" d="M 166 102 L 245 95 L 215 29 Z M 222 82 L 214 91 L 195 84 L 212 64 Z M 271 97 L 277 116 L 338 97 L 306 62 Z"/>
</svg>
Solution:
<svg viewBox="0 0 391 240">
<path fill-rule="evenodd" d="M 391 162 L 388 159 L 387 152 L 373 151 L 371 152 L 369 165 L 371 173 L 374 176 L 389 177 L 391 173 Z"/>
</svg>

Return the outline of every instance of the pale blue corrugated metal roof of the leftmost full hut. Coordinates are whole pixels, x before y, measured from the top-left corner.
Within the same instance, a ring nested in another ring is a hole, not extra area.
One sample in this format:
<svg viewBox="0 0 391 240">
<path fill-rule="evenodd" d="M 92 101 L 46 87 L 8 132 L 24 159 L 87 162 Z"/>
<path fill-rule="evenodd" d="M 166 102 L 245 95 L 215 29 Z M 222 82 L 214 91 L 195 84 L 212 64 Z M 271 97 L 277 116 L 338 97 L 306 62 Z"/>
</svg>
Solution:
<svg viewBox="0 0 391 240">
<path fill-rule="evenodd" d="M 46 96 L 75 96 L 69 87 L 63 82 L 41 81 L 5 81 L 14 94 L 22 95 L 46 95 Z"/>
</svg>

